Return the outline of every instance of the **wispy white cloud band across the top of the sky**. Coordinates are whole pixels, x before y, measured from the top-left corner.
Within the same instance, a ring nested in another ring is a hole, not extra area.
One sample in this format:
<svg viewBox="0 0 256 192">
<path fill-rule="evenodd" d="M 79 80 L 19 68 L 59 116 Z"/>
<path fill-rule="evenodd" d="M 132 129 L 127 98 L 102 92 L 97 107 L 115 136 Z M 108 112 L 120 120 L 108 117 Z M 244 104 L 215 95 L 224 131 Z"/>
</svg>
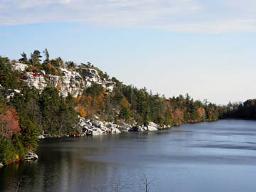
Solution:
<svg viewBox="0 0 256 192">
<path fill-rule="evenodd" d="M 0 0 L 0 25 L 80 22 L 107 28 L 256 31 L 256 1 Z"/>
</svg>

